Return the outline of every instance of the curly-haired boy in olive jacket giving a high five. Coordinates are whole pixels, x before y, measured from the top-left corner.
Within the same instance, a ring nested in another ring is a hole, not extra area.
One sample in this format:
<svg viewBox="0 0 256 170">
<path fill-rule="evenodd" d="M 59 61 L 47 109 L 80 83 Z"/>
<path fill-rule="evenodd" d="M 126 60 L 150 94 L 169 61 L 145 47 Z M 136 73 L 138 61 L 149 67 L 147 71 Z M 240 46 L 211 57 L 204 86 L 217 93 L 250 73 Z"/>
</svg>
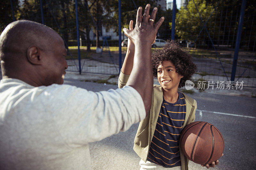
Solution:
<svg viewBox="0 0 256 170">
<path fill-rule="evenodd" d="M 133 21 L 130 22 L 132 30 Z M 128 39 L 118 87 L 122 88 L 132 71 L 134 45 Z M 136 62 L 136 61 L 135 61 Z M 148 116 L 140 122 L 134 139 L 134 151 L 141 158 L 140 169 L 188 169 L 188 159 L 182 153 L 179 139 L 182 129 L 195 120 L 196 100 L 178 91 L 196 72 L 191 55 L 176 41 L 152 52 L 153 75 L 160 85 L 154 85 Z M 143 68 L 141 68 L 143 71 Z M 212 162 L 214 167 L 218 164 Z"/>
</svg>

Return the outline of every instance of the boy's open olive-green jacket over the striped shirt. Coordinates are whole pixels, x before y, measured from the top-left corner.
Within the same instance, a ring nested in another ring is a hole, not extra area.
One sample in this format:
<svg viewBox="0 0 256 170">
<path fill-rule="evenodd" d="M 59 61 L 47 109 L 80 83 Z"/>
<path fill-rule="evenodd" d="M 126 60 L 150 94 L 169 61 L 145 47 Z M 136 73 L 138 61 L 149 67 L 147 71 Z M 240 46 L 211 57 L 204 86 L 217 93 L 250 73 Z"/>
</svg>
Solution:
<svg viewBox="0 0 256 170">
<path fill-rule="evenodd" d="M 125 75 L 124 73 L 120 73 L 118 78 L 118 87 L 122 88 L 127 80 L 129 75 Z M 189 123 L 195 121 L 195 112 L 196 112 L 196 100 L 188 97 L 184 94 L 184 99 L 186 101 L 186 117 L 184 121 L 184 125 L 187 126 Z M 149 153 L 149 147 L 156 129 L 156 122 L 158 119 L 158 115 L 160 112 L 160 108 L 163 102 L 163 90 L 161 85 L 153 85 L 153 94 L 152 94 L 152 104 L 150 113 L 147 117 L 140 122 L 139 128 L 137 130 L 133 150 L 139 155 L 139 157 L 146 162 Z M 185 127 L 183 126 L 182 129 Z M 188 159 L 184 156 L 180 146 L 180 162 L 181 169 L 188 170 Z"/>
</svg>

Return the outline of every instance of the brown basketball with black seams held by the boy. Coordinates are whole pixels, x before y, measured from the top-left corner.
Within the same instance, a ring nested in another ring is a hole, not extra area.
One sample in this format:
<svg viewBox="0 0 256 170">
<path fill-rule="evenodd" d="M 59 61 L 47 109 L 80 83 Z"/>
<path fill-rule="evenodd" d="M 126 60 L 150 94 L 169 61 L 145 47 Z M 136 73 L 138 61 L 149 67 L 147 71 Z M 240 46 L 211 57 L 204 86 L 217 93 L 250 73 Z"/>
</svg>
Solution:
<svg viewBox="0 0 256 170">
<path fill-rule="evenodd" d="M 180 135 L 184 155 L 197 164 L 211 164 L 224 151 L 224 139 L 215 126 L 207 122 L 192 122 Z"/>
</svg>

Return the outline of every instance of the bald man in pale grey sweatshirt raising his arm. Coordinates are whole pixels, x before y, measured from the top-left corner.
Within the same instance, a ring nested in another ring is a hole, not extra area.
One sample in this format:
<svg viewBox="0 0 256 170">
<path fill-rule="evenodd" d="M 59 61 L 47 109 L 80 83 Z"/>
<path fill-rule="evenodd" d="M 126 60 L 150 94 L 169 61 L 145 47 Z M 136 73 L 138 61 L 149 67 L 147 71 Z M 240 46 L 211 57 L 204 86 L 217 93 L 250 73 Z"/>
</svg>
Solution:
<svg viewBox="0 0 256 170">
<path fill-rule="evenodd" d="M 0 169 L 91 169 L 88 143 L 143 120 L 152 98 L 151 42 L 157 9 L 137 12 L 134 66 L 122 89 L 90 92 L 63 84 L 68 68 L 62 38 L 19 20 L 0 35 Z M 147 37 L 147 39 L 144 39 Z M 143 71 L 141 71 L 143 70 Z"/>
</svg>

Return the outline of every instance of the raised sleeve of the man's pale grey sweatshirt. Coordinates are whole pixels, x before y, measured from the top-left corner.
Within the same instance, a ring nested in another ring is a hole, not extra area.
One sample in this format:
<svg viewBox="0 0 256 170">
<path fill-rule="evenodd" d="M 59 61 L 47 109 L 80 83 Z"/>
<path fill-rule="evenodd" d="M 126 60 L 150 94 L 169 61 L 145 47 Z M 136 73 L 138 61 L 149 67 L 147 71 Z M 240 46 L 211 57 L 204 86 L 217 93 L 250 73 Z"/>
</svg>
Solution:
<svg viewBox="0 0 256 170">
<path fill-rule="evenodd" d="M 70 85 L 52 85 L 46 93 L 53 126 L 72 147 L 126 131 L 146 116 L 140 94 L 130 86 L 91 92 Z"/>
</svg>

